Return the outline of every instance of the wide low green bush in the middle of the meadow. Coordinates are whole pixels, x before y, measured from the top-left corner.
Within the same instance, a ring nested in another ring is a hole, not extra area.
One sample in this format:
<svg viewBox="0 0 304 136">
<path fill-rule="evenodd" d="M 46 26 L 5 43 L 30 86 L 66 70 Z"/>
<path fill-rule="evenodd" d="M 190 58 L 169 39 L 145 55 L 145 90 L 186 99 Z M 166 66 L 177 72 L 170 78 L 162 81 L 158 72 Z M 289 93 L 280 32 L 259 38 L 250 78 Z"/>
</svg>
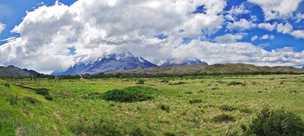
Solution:
<svg viewBox="0 0 304 136">
<path fill-rule="evenodd" d="M 106 101 L 134 103 L 154 99 L 159 91 L 151 87 L 128 87 L 125 89 L 114 89 L 101 94 L 101 98 Z"/>
</svg>

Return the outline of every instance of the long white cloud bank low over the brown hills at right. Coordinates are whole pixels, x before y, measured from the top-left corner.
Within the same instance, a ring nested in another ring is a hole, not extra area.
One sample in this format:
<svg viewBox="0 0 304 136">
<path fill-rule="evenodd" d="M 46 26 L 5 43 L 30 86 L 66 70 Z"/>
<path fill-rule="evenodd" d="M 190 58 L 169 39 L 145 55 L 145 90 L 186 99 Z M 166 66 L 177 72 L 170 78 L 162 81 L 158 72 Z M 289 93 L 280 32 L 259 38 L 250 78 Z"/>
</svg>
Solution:
<svg viewBox="0 0 304 136">
<path fill-rule="evenodd" d="M 291 47 L 266 51 L 250 43 L 219 44 L 192 40 L 173 52 L 196 56 L 208 64 L 241 62 L 259 66 L 303 66 L 304 62 L 304 51 L 294 52 Z"/>
</svg>

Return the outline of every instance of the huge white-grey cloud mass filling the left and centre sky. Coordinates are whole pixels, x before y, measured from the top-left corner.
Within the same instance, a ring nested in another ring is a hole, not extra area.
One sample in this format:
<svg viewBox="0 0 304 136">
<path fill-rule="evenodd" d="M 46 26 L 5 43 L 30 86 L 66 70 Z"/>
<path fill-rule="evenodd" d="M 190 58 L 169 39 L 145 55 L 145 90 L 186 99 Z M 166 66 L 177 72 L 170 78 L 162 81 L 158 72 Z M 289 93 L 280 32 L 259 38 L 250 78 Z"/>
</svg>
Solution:
<svg viewBox="0 0 304 136">
<path fill-rule="evenodd" d="M 201 5 L 204 13 L 195 13 Z M 225 6 L 223 0 L 78 0 L 70 6 L 56 1 L 27 12 L 12 30 L 21 37 L 0 46 L 0 62 L 50 72 L 121 49 L 152 59 L 155 53 L 143 50 L 169 52 L 183 37 L 199 39 L 221 29 Z M 168 37 L 158 39 L 159 34 Z M 68 48 L 75 49 L 73 55 Z"/>
</svg>

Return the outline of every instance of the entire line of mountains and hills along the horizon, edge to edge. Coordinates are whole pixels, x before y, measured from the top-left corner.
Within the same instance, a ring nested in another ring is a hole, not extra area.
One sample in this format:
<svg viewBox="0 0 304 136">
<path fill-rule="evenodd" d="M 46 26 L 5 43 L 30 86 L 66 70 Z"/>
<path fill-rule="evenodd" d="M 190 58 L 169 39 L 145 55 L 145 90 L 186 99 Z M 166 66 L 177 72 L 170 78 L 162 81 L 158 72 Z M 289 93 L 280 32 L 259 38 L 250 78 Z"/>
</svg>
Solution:
<svg viewBox="0 0 304 136">
<path fill-rule="evenodd" d="M 80 62 L 67 71 L 54 71 L 51 75 L 95 75 L 99 73 L 138 73 L 138 74 L 181 74 L 181 73 L 237 73 L 237 72 L 295 72 L 304 73 L 303 68 L 287 66 L 255 66 L 243 63 L 226 63 L 208 65 L 203 60 L 188 57 L 163 59 L 157 65 L 142 57 L 135 57 L 129 51 L 117 52 L 99 57 L 92 62 Z M 35 76 L 34 70 L 20 69 L 13 65 L 0 66 L 0 77 Z M 41 74 L 44 76 L 43 74 Z"/>
</svg>

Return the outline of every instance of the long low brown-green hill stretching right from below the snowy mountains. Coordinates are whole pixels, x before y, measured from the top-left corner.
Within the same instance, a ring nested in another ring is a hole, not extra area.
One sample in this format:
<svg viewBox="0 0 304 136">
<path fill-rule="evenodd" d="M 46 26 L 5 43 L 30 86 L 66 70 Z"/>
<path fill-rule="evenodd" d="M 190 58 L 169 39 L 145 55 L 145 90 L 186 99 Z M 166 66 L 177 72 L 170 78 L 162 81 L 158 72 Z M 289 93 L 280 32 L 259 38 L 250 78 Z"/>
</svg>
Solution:
<svg viewBox="0 0 304 136">
<path fill-rule="evenodd" d="M 238 73 L 238 72 L 294 72 L 304 73 L 304 68 L 287 66 L 255 66 L 243 63 L 226 64 L 188 64 L 173 66 L 153 66 L 151 68 L 137 67 L 129 70 L 118 70 L 111 73 L 137 73 L 137 74 L 184 74 L 184 73 Z"/>
</svg>

